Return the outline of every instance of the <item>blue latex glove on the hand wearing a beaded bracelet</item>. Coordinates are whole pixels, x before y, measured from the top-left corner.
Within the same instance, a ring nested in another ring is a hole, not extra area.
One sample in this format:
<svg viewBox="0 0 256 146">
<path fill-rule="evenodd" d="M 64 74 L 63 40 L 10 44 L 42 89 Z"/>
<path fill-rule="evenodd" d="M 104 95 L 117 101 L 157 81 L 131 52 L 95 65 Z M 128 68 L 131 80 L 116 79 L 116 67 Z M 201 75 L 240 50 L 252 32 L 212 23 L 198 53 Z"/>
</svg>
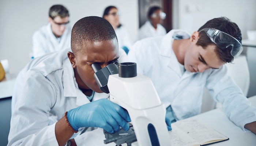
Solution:
<svg viewBox="0 0 256 146">
<path fill-rule="evenodd" d="M 131 122 L 128 113 L 119 105 L 100 99 L 68 111 L 68 122 L 77 131 L 80 127 L 101 127 L 113 133 L 121 126 L 129 130 L 127 122 Z"/>
</svg>

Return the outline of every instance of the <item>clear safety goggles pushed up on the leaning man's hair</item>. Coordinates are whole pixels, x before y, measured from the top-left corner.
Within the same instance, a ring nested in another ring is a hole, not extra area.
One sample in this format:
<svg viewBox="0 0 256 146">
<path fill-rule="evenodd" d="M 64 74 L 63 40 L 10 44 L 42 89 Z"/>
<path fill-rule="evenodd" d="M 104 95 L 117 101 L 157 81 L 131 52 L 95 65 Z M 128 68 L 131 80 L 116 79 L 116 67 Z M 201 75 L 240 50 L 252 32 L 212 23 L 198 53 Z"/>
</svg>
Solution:
<svg viewBox="0 0 256 146">
<path fill-rule="evenodd" d="M 243 50 L 242 44 L 231 35 L 214 28 L 203 28 L 199 32 L 201 31 L 206 32 L 211 41 L 221 49 L 232 47 L 230 53 L 233 57 L 238 57 L 241 54 Z"/>
</svg>

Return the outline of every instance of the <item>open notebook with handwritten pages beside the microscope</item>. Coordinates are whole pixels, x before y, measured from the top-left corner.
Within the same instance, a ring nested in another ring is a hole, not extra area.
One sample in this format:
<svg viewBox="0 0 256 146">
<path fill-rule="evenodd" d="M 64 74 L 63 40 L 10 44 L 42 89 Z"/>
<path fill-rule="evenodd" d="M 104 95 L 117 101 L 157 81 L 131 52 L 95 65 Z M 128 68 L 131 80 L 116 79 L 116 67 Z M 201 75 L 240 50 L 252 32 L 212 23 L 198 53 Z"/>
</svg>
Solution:
<svg viewBox="0 0 256 146">
<path fill-rule="evenodd" d="M 169 131 L 172 146 L 205 146 L 229 138 L 197 120 L 179 120 Z"/>
</svg>

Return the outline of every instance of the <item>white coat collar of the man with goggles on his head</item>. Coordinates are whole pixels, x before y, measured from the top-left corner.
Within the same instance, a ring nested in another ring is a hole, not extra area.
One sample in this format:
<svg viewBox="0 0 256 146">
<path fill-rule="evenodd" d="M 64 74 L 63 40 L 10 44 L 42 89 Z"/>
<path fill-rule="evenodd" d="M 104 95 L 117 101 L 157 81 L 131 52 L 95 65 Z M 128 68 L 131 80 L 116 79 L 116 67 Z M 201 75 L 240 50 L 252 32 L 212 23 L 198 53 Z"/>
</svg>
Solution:
<svg viewBox="0 0 256 146">
<path fill-rule="evenodd" d="M 176 72 L 180 77 L 182 76 L 182 73 L 180 70 L 178 59 L 173 51 L 172 43 L 174 39 L 187 39 L 189 37 L 190 35 L 186 31 L 171 30 L 163 37 L 163 41 L 161 43 L 160 55 L 162 55 L 163 57 L 170 58 L 170 61 L 168 64 L 169 68 L 171 68 L 174 72 Z M 190 73 L 186 73 L 186 74 L 190 74 Z"/>
</svg>

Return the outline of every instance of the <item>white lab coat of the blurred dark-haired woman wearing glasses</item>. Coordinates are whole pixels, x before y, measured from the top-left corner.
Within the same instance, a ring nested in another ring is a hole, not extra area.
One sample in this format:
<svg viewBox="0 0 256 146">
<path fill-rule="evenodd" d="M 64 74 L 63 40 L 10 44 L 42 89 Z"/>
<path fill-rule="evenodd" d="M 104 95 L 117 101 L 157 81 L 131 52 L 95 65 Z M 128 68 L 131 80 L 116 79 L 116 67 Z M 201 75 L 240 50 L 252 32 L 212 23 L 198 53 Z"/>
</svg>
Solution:
<svg viewBox="0 0 256 146">
<path fill-rule="evenodd" d="M 132 42 L 127 28 L 122 25 L 121 27 L 116 28 L 115 32 L 118 40 L 118 46 L 120 48 L 125 46 L 128 49 L 131 49 Z"/>
</svg>

